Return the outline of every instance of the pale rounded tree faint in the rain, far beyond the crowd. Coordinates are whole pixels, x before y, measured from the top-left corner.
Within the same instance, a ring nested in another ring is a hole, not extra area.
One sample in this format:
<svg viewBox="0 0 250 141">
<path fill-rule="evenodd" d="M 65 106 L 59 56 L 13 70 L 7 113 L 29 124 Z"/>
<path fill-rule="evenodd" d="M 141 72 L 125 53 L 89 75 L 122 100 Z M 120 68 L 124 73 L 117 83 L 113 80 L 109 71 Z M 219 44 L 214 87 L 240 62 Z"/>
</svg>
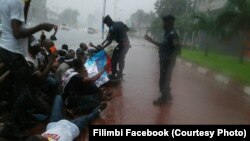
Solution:
<svg viewBox="0 0 250 141">
<path fill-rule="evenodd" d="M 60 15 L 61 22 L 64 24 L 69 24 L 73 27 L 77 26 L 78 23 L 78 16 L 80 13 L 78 10 L 67 8 L 65 9 Z"/>
</svg>

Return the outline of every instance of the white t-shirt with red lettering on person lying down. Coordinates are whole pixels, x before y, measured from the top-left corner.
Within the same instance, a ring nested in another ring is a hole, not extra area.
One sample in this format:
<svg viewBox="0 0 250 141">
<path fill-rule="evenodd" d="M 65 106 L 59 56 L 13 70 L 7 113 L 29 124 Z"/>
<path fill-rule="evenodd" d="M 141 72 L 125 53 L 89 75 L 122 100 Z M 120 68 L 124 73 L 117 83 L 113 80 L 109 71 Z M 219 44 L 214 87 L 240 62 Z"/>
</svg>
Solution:
<svg viewBox="0 0 250 141">
<path fill-rule="evenodd" d="M 48 124 L 46 132 L 42 134 L 49 141 L 73 141 L 79 135 L 79 128 L 68 120 Z"/>
</svg>

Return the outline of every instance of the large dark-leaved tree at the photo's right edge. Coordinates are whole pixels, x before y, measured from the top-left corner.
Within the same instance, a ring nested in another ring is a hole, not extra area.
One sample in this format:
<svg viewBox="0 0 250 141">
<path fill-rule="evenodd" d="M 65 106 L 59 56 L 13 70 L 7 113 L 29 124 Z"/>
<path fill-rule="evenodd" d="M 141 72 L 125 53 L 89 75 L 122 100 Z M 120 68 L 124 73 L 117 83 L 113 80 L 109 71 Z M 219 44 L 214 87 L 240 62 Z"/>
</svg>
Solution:
<svg viewBox="0 0 250 141">
<path fill-rule="evenodd" d="M 250 38 L 250 0 L 228 0 L 224 11 L 217 17 L 216 23 L 225 29 L 228 36 L 241 35 L 242 49 L 239 61 L 244 62 L 246 45 L 244 42 Z"/>
</svg>

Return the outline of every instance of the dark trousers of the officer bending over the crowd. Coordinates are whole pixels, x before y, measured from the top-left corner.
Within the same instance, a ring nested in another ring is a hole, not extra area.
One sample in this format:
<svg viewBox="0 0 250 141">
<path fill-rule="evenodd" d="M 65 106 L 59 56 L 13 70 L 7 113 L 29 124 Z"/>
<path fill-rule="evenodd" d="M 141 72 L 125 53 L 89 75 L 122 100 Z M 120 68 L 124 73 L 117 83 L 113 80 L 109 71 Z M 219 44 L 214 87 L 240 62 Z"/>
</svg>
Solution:
<svg viewBox="0 0 250 141">
<path fill-rule="evenodd" d="M 112 67 L 112 75 L 123 75 L 123 69 L 125 67 L 125 57 L 130 48 L 130 45 L 118 45 L 113 52 L 111 67 Z M 119 66 L 118 66 L 119 65 Z M 117 70 L 119 67 L 119 71 Z"/>
</svg>

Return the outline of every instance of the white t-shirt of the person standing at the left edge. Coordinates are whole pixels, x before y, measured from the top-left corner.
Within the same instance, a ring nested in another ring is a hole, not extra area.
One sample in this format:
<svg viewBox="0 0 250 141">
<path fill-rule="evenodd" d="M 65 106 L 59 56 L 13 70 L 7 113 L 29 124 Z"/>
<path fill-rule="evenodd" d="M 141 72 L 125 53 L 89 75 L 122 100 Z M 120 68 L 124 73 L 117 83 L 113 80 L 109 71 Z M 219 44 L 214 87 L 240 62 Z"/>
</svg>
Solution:
<svg viewBox="0 0 250 141">
<path fill-rule="evenodd" d="M 28 39 L 16 39 L 13 35 L 11 20 L 24 20 L 24 3 L 22 0 L 0 0 L 0 18 L 2 21 L 2 38 L 0 47 L 23 56 L 28 54 Z M 23 26 L 25 26 L 23 24 Z"/>
</svg>

